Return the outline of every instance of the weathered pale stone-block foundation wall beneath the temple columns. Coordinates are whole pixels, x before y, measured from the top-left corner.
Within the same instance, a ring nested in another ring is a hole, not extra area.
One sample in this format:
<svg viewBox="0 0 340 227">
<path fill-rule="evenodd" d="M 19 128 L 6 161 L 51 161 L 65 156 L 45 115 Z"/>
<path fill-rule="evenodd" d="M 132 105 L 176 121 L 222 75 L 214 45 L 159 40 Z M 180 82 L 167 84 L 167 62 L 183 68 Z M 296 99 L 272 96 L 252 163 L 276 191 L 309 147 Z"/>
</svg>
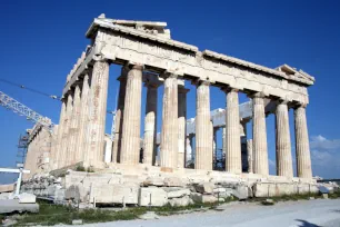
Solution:
<svg viewBox="0 0 340 227">
<path fill-rule="evenodd" d="M 317 193 L 314 181 L 287 180 L 280 177 L 259 179 L 218 171 L 189 170 L 186 174 L 161 172 L 157 168 L 121 168 L 111 172 L 69 170 L 64 177 L 36 176 L 22 184 L 22 191 L 57 203 L 110 204 L 136 206 L 187 206 L 193 203 L 223 201 L 231 196 L 251 197 Z M 134 172 L 136 171 L 136 172 Z"/>
</svg>

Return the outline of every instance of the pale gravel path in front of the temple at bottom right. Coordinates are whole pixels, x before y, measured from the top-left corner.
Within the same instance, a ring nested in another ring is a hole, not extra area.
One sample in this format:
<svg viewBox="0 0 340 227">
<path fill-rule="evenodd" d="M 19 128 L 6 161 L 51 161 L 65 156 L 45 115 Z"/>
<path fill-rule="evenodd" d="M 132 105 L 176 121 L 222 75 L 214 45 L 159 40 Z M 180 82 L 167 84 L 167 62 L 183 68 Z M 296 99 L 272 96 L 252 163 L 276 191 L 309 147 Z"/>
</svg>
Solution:
<svg viewBox="0 0 340 227">
<path fill-rule="evenodd" d="M 209 210 L 160 217 L 153 220 L 129 220 L 84 225 L 87 227 L 340 227 L 340 199 L 286 201 L 274 206 L 257 204 L 223 205 L 222 211 Z"/>
</svg>

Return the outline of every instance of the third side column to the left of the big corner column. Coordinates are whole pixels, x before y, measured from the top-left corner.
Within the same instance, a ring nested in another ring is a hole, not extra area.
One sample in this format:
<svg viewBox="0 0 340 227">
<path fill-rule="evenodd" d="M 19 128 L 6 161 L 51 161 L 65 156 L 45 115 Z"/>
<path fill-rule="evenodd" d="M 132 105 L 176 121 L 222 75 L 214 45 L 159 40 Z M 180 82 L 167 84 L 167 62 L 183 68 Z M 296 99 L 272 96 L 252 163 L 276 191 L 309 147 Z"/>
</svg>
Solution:
<svg viewBox="0 0 340 227">
<path fill-rule="evenodd" d="M 66 111 L 66 118 L 62 125 L 62 139 L 61 139 L 61 152 L 60 152 L 60 162 L 59 168 L 62 168 L 68 165 L 68 159 L 70 158 L 67 154 L 67 150 L 69 149 L 69 130 L 70 130 L 70 120 L 72 117 L 72 109 L 73 109 L 73 97 L 72 95 L 68 95 L 68 103 L 67 103 L 67 111 Z"/>
</svg>

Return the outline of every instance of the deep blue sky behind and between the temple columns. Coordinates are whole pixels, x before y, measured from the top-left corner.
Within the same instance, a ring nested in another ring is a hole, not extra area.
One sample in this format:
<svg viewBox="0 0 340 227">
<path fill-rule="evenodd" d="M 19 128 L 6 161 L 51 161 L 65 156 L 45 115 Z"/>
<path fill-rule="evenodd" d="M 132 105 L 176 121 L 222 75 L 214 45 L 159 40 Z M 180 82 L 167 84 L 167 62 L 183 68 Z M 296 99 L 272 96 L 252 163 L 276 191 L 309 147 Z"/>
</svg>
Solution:
<svg viewBox="0 0 340 227">
<path fill-rule="evenodd" d="M 313 174 L 340 177 L 339 1 L 3 0 L 0 3 L 0 78 L 60 95 L 66 76 L 89 43 L 84 33 L 100 13 L 114 19 L 167 21 L 172 39 L 200 50 L 210 49 L 271 68 L 288 63 L 314 76 L 317 81 L 309 88 L 308 106 Z M 108 109 L 116 107 L 118 75 L 119 67 L 111 66 Z M 188 117 L 193 117 L 196 91 L 189 83 L 188 88 L 191 89 Z M 0 90 L 59 121 L 60 102 L 1 82 Z M 159 95 L 161 100 L 162 89 Z M 240 101 L 247 100 L 240 96 Z M 224 102 L 223 93 L 212 88 L 211 109 L 223 108 Z M 293 131 L 292 112 L 290 117 Z M 109 130 L 111 116 L 108 118 Z M 267 122 L 270 168 L 274 174 L 274 117 L 269 116 Z M 30 127 L 32 124 L 23 117 L 0 108 L 1 167 L 14 166 L 18 137 Z M 221 146 L 220 140 L 218 144 Z M 0 181 L 6 179 L 0 174 Z"/>
</svg>

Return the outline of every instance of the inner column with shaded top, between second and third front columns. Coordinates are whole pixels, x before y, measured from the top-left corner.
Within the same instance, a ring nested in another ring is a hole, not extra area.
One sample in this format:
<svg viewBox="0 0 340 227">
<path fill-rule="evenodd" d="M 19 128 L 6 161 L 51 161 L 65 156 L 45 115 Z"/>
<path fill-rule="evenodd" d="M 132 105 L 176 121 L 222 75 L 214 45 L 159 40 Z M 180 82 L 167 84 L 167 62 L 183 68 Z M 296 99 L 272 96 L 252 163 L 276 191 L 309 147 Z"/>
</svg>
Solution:
<svg viewBox="0 0 340 227">
<path fill-rule="evenodd" d="M 158 87 L 159 83 L 147 82 L 147 107 L 146 107 L 146 120 L 144 120 L 144 150 L 143 150 L 143 164 L 154 165 L 157 147 L 157 100 L 158 100 Z"/>
</svg>

